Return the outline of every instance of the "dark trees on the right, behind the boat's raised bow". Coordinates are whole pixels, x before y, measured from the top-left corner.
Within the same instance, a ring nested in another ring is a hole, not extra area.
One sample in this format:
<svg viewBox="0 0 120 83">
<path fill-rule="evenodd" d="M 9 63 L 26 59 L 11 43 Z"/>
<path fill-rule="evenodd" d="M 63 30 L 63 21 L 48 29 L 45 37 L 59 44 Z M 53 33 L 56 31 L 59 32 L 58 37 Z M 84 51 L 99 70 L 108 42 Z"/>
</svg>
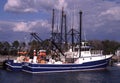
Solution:
<svg viewBox="0 0 120 83">
<path fill-rule="evenodd" d="M 90 44 L 97 50 L 103 50 L 103 54 L 114 54 L 115 51 L 120 47 L 120 42 L 110 40 L 92 40 Z"/>
</svg>

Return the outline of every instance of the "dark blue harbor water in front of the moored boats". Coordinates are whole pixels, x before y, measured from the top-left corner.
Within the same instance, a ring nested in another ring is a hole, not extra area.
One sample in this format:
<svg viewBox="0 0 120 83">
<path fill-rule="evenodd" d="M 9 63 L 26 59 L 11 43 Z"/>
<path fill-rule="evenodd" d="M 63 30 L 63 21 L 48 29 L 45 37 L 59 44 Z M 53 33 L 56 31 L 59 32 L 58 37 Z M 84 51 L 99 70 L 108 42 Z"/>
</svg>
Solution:
<svg viewBox="0 0 120 83">
<path fill-rule="evenodd" d="M 0 83 L 120 83 L 120 67 L 67 73 L 29 74 L 0 70 Z"/>
</svg>

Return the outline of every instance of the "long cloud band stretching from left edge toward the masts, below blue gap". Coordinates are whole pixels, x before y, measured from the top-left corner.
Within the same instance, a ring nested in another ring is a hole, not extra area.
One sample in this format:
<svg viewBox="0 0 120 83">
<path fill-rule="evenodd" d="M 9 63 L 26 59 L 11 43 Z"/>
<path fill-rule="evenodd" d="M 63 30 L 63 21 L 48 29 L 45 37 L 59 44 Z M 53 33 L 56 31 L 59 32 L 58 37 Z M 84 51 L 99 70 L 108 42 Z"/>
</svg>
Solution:
<svg viewBox="0 0 120 83">
<path fill-rule="evenodd" d="M 37 32 L 37 29 L 50 29 L 50 24 L 46 20 L 37 20 L 29 22 L 9 22 L 0 21 L 0 30 L 13 32 Z"/>
</svg>

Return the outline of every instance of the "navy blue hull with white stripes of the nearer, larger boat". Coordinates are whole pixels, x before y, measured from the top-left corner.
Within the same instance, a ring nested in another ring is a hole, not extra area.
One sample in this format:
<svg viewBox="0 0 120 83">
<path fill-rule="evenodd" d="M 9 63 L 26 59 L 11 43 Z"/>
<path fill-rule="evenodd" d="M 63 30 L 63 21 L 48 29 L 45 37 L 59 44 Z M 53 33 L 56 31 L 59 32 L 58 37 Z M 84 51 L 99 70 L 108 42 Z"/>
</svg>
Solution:
<svg viewBox="0 0 120 83">
<path fill-rule="evenodd" d="M 109 59 L 86 62 L 83 64 L 33 64 L 24 63 L 23 71 L 29 73 L 49 73 L 49 72 L 69 72 L 69 71 L 88 71 L 105 69 Z"/>
</svg>

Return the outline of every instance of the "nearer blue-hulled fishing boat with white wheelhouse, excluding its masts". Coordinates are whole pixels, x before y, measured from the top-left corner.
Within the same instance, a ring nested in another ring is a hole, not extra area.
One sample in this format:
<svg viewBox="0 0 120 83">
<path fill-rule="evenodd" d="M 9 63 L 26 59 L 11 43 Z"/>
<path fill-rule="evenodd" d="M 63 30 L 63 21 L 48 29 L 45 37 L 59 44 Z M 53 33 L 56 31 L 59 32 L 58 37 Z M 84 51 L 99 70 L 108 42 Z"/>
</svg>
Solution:
<svg viewBox="0 0 120 83">
<path fill-rule="evenodd" d="M 70 49 L 65 52 L 65 57 L 61 57 L 59 60 L 49 59 L 49 61 L 42 63 L 25 62 L 22 71 L 29 73 L 88 71 L 105 69 L 108 66 L 112 54 L 92 53 L 91 48 L 88 46 L 84 46 L 82 49 L 85 50 L 81 51 L 81 56 L 79 56 L 79 50 L 76 47 L 74 51 Z"/>
</svg>

